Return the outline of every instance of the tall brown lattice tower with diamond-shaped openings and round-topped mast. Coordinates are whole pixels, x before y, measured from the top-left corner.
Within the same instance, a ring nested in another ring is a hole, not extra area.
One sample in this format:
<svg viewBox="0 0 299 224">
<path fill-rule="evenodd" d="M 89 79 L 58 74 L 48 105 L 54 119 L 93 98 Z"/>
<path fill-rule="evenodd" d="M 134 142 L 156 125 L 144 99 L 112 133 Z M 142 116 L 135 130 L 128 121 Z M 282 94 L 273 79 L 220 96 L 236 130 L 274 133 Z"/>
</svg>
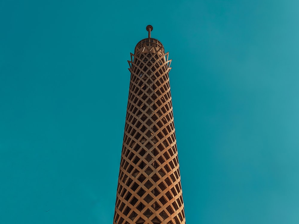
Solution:
<svg viewBox="0 0 299 224">
<path fill-rule="evenodd" d="M 131 72 L 113 224 L 185 224 L 168 53 L 141 40 Z"/>
</svg>

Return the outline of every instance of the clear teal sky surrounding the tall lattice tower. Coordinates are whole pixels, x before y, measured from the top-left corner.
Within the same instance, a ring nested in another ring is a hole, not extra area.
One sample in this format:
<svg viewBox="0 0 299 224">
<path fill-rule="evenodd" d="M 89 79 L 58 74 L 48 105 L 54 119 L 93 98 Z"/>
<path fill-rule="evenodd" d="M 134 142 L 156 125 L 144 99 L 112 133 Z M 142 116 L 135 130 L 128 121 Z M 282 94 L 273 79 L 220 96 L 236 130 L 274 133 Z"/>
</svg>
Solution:
<svg viewBox="0 0 299 224">
<path fill-rule="evenodd" d="M 299 223 L 299 1 L 0 0 L 0 223 L 112 223 L 154 28 L 187 224 Z"/>
</svg>

